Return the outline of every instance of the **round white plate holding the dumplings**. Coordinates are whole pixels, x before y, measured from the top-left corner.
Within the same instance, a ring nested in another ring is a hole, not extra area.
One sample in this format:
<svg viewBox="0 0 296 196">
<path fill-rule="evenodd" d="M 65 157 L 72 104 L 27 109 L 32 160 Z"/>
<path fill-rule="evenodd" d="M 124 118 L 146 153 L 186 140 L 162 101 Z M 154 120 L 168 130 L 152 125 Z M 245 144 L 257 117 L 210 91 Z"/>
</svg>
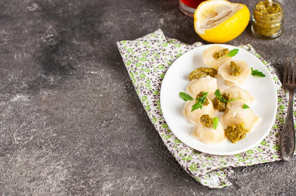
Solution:
<svg viewBox="0 0 296 196">
<path fill-rule="evenodd" d="M 233 59 L 246 61 L 250 68 L 254 67 L 254 69 L 259 69 L 259 71 L 262 71 L 266 75 L 266 77 L 250 75 L 248 79 L 240 85 L 242 89 L 248 90 L 251 95 L 256 98 L 249 106 L 261 119 L 252 132 L 247 133 L 244 139 L 235 144 L 227 140 L 217 144 L 206 145 L 198 139 L 193 138 L 190 133 L 193 131 L 194 125 L 189 124 L 182 115 L 185 101 L 179 97 L 179 93 L 186 92 L 185 89 L 189 83 L 187 76 L 191 71 L 200 66 L 207 66 L 202 62 L 201 53 L 212 45 L 213 44 L 209 44 L 192 49 L 179 57 L 171 65 L 161 85 L 161 110 L 171 131 L 191 148 L 213 155 L 238 154 L 256 146 L 271 130 L 277 111 L 277 91 L 273 78 L 266 66 L 251 53 L 238 48 L 239 52 Z M 225 44 L 219 45 L 230 50 L 237 48 Z M 228 88 L 223 79 L 218 78 L 217 82 L 221 90 Z M 219 112 L 216 116 L 220 117 L 222 114 L 222 112 Z"/>
</svg>

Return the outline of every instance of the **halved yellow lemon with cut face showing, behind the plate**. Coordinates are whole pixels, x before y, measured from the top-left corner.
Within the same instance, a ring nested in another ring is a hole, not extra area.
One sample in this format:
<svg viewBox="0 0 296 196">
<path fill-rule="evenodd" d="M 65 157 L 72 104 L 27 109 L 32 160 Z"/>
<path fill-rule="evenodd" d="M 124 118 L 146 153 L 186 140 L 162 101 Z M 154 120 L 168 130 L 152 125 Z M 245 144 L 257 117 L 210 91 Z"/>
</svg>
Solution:
<svg viewBox="0 0 296 196">
<path fill-rule="evenodd" d="M 248 7 L 228 0 L 206 0 L 194 12 L 195 32 L 212 43 L 225 43 L 240 35 L 250 20 Z"/>
</svg>

